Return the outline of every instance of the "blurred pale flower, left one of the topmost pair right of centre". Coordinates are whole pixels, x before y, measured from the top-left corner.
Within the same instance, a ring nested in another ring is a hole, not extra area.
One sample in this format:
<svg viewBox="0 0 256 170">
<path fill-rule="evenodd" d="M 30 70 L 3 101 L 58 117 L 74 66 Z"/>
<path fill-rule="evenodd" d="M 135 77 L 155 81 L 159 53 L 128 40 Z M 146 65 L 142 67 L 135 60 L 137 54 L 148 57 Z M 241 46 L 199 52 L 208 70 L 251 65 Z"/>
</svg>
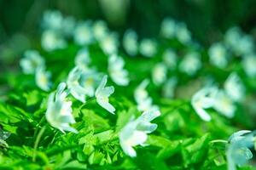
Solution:
<svg viewBox="0 0 256 170">
<path fill-rule="evenodd" d="M 176 23 L 174 20 L 166 18 L 162 21 L 160 35 L 166 38 L 172 38 L 176 33 Z"/>
</svg>

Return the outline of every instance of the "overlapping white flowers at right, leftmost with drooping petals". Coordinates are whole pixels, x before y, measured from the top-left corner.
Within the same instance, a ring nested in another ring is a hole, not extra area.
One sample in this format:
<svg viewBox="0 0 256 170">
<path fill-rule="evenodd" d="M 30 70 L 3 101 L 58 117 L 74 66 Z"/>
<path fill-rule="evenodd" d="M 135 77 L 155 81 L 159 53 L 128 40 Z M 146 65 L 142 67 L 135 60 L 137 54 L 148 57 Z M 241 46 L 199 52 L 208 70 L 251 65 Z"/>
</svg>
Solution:
<svg viewBox="0 0 256 170">
<path fill-rule="evenodd" d="M 245 88 L 240 77 L 236 73 L 231 73 L 224 82 L 224 89 L 217 87 L 202 88 L 194 94 L 191 105 L 195 112 L 204 121 L 210 121 L 211 116 L 205 109 L 213 108 L 227 117 L 233 117 L 236 111 L 235 102 L 241 102 L 245 96 Z"/>
</svg>

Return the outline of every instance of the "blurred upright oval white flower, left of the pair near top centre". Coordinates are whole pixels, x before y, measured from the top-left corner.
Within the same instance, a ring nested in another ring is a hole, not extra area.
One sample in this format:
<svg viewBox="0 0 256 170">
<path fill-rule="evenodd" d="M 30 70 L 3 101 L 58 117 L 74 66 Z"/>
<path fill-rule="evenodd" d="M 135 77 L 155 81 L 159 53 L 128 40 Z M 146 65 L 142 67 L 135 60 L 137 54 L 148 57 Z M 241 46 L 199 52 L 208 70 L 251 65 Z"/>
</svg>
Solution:
<svg viewBox="0 0 256 170">
<path fill-rule="evenodd" d="M 125 35 L 123 37 L 123 46 L 127 54 L 131 56 L 137 55 L 137 33 L 132 30 L 125 31 Z"/>
</svg>

